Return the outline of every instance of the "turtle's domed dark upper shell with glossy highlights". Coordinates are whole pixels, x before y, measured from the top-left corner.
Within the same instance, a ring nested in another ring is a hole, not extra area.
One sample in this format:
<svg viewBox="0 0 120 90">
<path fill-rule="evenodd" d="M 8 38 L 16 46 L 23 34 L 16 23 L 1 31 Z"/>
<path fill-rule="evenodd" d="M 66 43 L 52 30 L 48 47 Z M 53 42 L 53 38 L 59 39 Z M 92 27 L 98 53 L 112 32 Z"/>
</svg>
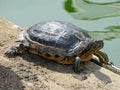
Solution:
<svg viewBox="0 0 120 90">
<path fill-rule="evenodd" d="M 92 41 L 81 28 L 62 21 L 35 24 L 27 30 L 27 39 L 41 52 L 64 56 L 81 53 Z"/>
</svg>

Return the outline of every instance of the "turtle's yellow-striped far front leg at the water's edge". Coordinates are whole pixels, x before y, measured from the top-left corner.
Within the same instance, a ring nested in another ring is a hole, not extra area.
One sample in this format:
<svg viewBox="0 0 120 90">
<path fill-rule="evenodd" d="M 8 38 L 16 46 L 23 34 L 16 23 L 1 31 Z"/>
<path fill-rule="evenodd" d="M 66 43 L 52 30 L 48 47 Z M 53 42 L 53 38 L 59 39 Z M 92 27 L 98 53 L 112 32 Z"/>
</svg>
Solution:
<svg viewBox="0 0 120 90">
<path fill-rule="evenodd" d="M 105 52 L 97 51 L 94 53 L 94 55 L 99 58 L 101 65 L 102 64 L 108 64 L 108 65 L 113 64 L 112 62 L 109 61 L 109 58 Z"/>
</svg>

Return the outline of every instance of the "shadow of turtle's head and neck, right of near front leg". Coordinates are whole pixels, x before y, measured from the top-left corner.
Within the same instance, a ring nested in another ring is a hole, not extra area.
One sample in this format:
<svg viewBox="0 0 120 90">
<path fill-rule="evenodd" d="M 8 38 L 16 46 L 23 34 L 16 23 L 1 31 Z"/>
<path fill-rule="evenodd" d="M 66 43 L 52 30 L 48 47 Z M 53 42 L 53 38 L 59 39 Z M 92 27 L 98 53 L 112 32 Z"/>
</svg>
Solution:
<svg viewBox="0 0 120 90">
<path fill-rule="evenodd" d="M 93 60 L 92 62 L 90 61 L 83 63 L 83 67 L 84 67 L 84 71 L 81 73 L 82 75 L 86 74 L 87 76 L 90 76 L 90 74 L 93 73 L 93 75 L 95 75 L 95 77 L 98 78 L 100 81 L 102 81 L 104 84 L 108 84 L 112 82 L 111 78 L 108 75 L 100 71 L 101 66 L 96 65 L 93 62 Z M 74 77 L 77 79 L 81 79 L 79 75 L 74 75 Z"/>
</svg>

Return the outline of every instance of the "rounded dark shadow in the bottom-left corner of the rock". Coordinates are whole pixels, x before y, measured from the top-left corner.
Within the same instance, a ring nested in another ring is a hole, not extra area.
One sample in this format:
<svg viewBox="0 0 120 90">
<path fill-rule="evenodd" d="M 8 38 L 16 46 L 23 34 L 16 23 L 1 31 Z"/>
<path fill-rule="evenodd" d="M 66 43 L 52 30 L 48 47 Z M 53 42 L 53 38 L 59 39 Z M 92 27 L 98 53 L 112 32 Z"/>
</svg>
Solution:
<svg viewBox="0 0 120 90">
<path fill-rule="evenodd" d="M 23 90 L 20 77 L 2 65 L 0 65 L 0 90 Z"/>
</svg>

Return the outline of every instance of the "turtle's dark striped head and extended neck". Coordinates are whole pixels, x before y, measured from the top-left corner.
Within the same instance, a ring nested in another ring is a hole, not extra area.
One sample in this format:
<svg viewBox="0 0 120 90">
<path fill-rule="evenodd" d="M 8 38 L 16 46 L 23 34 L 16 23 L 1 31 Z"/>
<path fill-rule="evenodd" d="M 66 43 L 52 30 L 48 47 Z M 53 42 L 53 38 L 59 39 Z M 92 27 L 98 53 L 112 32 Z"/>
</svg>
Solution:
<svg viewBox="0 0 120 90">
<path fill-rule="evenodd" d="M 82 53 L 81 57 L 86 57 L 89 54 L 94 54 L 95 52 L 99 51 L 101 48 L 103 48 L 104 42 L 103 40 L 91 40 L 88 43 L 87 48 L 85 48 Z"/>
</svg>

